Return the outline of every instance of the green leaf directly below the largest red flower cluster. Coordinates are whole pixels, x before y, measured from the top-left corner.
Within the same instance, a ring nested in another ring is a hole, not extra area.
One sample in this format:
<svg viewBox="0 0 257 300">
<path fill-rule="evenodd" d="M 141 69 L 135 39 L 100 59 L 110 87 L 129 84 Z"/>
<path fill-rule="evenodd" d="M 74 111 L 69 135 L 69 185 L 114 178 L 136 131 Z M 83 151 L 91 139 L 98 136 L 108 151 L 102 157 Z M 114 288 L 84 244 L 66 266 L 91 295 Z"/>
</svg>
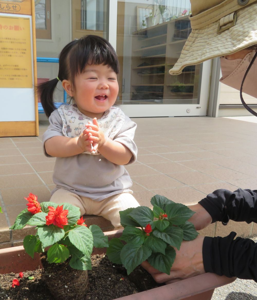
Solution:
<svg viewBox="0 0 257 300">
<path fill-rule="evenodd" d="M 42 242 L 43 248 L 52 246 L 57 241 L 60 241 L 65 235 L 65 232 L 62 228 L 59 228 L 54 225 L 49 226 L 38 226 L 37 233 L 40 241 Z"/>
</svg>

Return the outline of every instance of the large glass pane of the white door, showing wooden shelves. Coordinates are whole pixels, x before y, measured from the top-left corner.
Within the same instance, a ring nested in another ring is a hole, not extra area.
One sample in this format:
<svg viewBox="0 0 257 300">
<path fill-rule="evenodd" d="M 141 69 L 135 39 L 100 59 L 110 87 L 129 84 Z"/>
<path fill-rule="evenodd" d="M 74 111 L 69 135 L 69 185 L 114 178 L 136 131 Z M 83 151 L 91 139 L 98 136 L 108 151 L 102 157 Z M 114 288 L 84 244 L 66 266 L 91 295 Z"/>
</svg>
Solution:
<svg viewBox="0 0 257 300">
<path fill-rule="evenodd" d="M 124 2 L 117 20 L 120 104 L 198 104 L 201 65 L 168 73 L 191 32 L 190 1 Z"/>
</svg>

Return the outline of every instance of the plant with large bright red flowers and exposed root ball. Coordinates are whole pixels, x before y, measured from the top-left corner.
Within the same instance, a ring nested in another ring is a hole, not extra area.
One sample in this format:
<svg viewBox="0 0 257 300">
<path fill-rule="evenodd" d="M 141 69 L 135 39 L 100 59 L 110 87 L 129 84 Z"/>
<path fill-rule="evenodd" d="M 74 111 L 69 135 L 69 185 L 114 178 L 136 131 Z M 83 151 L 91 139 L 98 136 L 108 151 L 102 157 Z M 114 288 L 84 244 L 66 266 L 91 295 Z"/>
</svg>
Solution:
<svg viewBox="0 0 257 300">
<path fill-rule="evenodd" d="M 108 247 L 108 238 L 97 225 L 87 228 L 80 210 L 69 203 L 37 201 L 30 193 L 28 208 L 21 211 L 10 229 L 36 226 L 36 235 L 27 235 L 23 246 L 32 258 L 41 253 L 42 279 L 57 299 L 83 297 L 91 269 L 93 246 Z M 49 276 L 50 275 L 50 276 Z M 52 276 L 51 276 L 52 275 Z M 69 282 L 69 289 L 65 288 Z"/>
</svg>

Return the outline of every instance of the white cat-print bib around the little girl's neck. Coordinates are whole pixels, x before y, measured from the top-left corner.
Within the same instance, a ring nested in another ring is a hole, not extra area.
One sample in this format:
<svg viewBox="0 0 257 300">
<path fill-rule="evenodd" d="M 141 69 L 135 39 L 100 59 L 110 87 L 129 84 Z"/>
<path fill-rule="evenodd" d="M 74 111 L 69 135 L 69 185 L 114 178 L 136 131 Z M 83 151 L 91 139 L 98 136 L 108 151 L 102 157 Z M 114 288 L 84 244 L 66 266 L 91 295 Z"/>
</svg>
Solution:
<svg viewBox="0 0 257 300">
<path fill-rule="evenodd" d="M 80 113 L 77 104 L 63 104 L 58 109 L 63 121 L 63 135 L 65 137 L 77 137 L 86 129 L 88 121 L 93 123 L 93 119 Z M 125 121 L 125 115 L 118 107 L 110 107 L 100 119 L 97 120 L 99 128 L 106 137 L 111 140 L 121 130 Z M 84 151 L 83 153 L 98 155 L 98 150 L 93 152 Z"/>
</svg>

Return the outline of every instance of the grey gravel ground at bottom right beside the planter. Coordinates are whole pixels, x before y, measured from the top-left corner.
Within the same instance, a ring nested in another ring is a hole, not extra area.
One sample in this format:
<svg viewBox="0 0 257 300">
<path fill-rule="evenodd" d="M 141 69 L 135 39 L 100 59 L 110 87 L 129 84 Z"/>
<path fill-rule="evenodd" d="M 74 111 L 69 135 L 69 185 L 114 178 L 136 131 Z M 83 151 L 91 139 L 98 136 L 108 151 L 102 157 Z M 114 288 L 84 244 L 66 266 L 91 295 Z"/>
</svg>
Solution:
<svg viewBox="0 0 257 300">
<path fill-rule="evenodd" d="M 252 239 L 257 242 L 257 237 Z M 212 300 L 257 300 L 257 283 L 237 278 L 234 282 L 215 289 Z"/>
</svg>

